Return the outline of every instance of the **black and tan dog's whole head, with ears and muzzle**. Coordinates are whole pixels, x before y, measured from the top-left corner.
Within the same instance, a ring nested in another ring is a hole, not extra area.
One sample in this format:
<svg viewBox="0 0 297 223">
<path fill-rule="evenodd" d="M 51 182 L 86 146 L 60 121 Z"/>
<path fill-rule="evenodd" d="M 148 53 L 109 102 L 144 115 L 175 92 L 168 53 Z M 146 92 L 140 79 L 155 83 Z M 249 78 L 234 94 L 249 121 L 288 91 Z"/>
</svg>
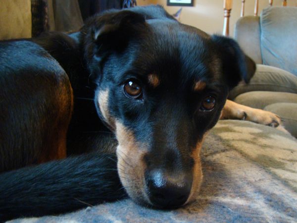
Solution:
<svg viewBox="0 0 297 223">
<path fill-rule="evenodd" d="M 118 140 L 126 191 L 159 208 L 193 200 L 203 138 L 254 63 L 233 40 L 180 24 L 161 7 L 109 11 L 82 32 L 96 107 Z"/>
</svg>

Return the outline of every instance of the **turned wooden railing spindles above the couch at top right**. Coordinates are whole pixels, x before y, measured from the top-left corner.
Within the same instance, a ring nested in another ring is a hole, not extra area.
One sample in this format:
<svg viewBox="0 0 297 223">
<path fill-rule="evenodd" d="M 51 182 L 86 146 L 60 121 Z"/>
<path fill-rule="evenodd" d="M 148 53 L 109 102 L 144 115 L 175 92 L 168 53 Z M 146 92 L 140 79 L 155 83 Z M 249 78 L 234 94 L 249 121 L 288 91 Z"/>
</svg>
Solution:
<svg viewBox="0 0 297 223">
<path fill-rule="evenodd" d="M 241 17 L 245 15 L 245 2 L 246 0 L 241 0 Z M 273 0 L 268 0 L 269 5 L 272 6 Z M 287 0 L 282 1 L 283 6 L 287 6 Z M 297 5 L 296 5 L 297 6 Z M 223 28 L 223 35 L 229 36 L 229 23 L 230 23 L 230 15 L 232 9 L 232 0 L 224 0 L 224 28 Z M 258 9 L 259 9 L 259 0 L 255 0 L 255 7 L 254 7 L 254 16 L 258 16 Z"/>
</svg>

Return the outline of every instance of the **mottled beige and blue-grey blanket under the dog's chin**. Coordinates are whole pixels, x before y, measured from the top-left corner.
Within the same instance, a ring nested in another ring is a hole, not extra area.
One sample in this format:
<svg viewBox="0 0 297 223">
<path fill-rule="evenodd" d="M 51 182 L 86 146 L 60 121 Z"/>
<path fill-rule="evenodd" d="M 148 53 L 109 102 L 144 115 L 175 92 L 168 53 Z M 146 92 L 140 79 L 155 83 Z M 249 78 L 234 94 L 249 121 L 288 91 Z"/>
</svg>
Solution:
<svg viewBox="0 0 297 223">
<path fill-rule="evenodd" d="M 126 199 L 11 222 L 297 222 L 297 140 L 292 136 L 247 121 L 223 120 L 206 137 L 201 158 L 201 191 L 186 207 L 153 210 Z"/>
</svg>

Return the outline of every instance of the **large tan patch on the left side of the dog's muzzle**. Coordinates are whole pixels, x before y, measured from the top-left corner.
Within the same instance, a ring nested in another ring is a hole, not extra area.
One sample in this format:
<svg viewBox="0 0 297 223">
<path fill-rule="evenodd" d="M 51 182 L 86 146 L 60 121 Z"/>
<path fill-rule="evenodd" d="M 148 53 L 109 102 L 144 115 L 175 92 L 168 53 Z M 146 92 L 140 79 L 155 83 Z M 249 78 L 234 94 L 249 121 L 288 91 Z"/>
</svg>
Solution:
<svg viewBox="0 0 297 223">
<path fill-rule="evenodd" d="M 133 133 L 122 123 L 116 121 L 115 126 L 116 138 L 119 143 L 116 154 L 120 180 L 133 200 L 150 203 L 145 192 L 144 182 L 146 165 L 143 157 L 147 147 L 136 142 Z"/>
</svg>

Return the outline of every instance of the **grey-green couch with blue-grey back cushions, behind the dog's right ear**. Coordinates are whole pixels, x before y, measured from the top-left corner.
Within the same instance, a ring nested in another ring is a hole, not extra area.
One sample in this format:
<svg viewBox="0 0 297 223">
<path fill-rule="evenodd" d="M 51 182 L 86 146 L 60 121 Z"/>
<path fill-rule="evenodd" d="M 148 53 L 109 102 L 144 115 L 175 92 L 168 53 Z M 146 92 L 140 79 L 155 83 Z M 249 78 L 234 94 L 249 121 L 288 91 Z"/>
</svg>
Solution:
<svg viewBox="0 0 297 223">
<path fill-rule="evenodd" d="M 258 65 L 248 85 L 229 98 L 239 104 L 278 114 L 297 137 L 297 7 L 267 7 L 260 16 L 244 16 L 235 39 Z"/>
</svg>

